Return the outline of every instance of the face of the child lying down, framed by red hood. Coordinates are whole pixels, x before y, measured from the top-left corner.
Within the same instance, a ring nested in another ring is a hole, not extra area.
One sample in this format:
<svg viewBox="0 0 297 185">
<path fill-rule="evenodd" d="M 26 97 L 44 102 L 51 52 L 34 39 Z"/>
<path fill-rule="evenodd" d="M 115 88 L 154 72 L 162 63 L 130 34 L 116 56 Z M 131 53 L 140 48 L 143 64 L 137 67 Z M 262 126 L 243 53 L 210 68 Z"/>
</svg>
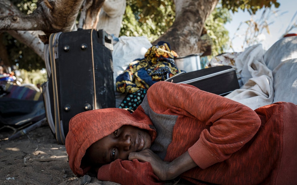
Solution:
<svg viewBox="0 0 297 185">
<path fill-rule="evenodd" d="M 139 152 L 151 147 L 148 132 L 131 125 L 123 125 L 108 136 L 93 143 L 86 157 L 93 164 L 108 164 L 115 159 L 128 160 L 130 152 Z"/>
</svg>

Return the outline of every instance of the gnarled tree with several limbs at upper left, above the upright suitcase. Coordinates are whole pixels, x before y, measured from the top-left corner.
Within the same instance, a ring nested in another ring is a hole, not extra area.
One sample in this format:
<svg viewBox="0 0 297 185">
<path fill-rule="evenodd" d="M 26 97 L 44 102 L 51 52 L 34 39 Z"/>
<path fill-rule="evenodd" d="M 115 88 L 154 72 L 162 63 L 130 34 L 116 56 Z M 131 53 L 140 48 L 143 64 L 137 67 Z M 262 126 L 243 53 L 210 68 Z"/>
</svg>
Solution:
<svg viewBox="0 0 297 185">
<path fill-rule="evenodd" d="M 10 1 L 0 0 L 0 32 L 7 31 L 44 60 L 44 43 L 51 33 L 76 30 L 75 20 L 83 2 L 90 6 L 84 9 L 82 27 L 96 28 L 104 0 L 44 0 L 30 15 L 22 14 Z M 41 35 L 46 35 L 42 41 Z"/>
</svg>

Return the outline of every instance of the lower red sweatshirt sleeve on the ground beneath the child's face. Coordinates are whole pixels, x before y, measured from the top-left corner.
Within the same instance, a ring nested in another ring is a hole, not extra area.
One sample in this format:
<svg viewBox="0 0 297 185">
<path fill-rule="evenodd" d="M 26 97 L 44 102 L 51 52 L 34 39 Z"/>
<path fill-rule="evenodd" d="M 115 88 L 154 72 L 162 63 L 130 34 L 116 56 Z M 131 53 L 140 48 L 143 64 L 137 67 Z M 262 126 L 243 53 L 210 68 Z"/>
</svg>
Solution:
<svg viewBox="0 0 297 185">
<path fill-rule="evenodd" d="M 149 162 L 140 162 L 137 159 L 117 159 L 110 164 L 103 165 L 98 170 L 97 178 L 103 181 L 112 181 L 122 185 L 144 184 L 161 185 L 158 177 L 154 175 Z"/>
</svg>

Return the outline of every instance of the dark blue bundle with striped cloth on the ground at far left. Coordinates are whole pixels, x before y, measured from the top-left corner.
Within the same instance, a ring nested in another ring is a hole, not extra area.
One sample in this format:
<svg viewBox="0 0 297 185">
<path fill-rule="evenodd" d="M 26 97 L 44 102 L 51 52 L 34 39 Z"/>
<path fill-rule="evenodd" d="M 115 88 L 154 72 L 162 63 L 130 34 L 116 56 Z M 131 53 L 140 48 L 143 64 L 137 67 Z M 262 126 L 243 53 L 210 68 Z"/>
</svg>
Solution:
<svg viewBox="0 0 297 185">
<path fill-rule="evenodd" d="M 0 130 L 12 129 L 18 137 L 23 129 L 30 131 L 45 122 L 43 96 L 29 87 L 14 84 L 0 84 Z M 23 133 L 24 134 L 24 133 Z"/>
</svg>

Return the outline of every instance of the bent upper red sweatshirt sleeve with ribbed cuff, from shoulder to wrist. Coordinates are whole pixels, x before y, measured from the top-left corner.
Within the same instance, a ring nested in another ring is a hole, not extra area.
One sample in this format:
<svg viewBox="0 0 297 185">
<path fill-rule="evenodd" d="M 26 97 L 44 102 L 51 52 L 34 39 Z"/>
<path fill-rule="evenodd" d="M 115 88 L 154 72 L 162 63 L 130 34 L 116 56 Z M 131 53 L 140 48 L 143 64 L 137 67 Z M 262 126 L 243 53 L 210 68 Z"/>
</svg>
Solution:
<svg viewBox="0 0 297 185">
<path fill-rule="evenodd" d="M 187 84 L 158 82 L 149 88 L 147 100 L 156 113 L 179 115 L 178 125 L 189 131 L 188 127 L 204 128 L 197 133 L 198 141 L 188 148 L 202 169 L 230 158 L 252 139 L 261 124 L 249 107 Z M 193 120 L 194 124 L 184 125 Z"/>
</svg>

